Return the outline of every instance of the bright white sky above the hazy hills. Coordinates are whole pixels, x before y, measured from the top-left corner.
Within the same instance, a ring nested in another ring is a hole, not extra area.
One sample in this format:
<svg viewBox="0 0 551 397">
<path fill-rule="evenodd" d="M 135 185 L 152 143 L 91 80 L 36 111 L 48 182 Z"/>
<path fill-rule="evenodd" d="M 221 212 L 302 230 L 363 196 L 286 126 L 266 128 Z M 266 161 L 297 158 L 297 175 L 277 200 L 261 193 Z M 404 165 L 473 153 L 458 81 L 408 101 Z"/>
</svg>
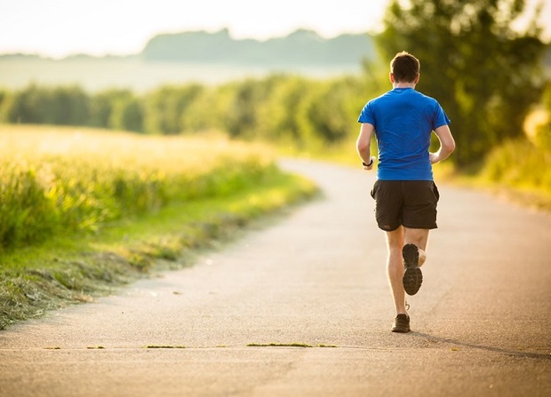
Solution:
<svg viewBox="0 0 551 397">
<path fill-rule="evenodd" d="M 533 3 L 538 0 L 529 0 Z M 324 37 L 377 32 L 389 0 L 4 0 L 0 53 L 62 58 L 140 52 L 160 33 L 228 28 L 265 40 L 298 28 Z M 543 20 L 551 20 L 545 0 Z M 547 24 L 550 24 L 548 22 Z M 548 29 L 551 32 L 551 27 Z M 547 37 L 551 35 L 547 34 Z"/>
</svg>

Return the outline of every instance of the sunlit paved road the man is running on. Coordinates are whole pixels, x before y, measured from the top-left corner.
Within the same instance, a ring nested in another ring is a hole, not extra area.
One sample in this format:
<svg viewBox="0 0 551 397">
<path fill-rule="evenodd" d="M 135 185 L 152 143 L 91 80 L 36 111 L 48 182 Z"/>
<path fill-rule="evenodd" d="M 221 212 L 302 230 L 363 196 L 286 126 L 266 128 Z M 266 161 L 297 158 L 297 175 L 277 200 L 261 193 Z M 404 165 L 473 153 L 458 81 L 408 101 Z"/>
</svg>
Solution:
<svg viewBox="0 0 551 397">
<path fill-rule="evenodd" d="M 440 187 L 413 331 L 394 334 L 372 174 L 284 166 L 324 198 L 196 266 L 1 331 L 0 395 L 551 395 L 550 217 Z"/>
</svg>

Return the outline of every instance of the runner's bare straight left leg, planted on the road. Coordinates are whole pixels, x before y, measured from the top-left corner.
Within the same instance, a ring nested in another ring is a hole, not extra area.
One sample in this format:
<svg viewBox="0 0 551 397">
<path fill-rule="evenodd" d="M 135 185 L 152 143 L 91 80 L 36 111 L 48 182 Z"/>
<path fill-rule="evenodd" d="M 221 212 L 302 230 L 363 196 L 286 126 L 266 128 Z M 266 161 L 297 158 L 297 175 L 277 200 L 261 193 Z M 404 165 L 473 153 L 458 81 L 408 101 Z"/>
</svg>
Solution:
<svg viewBox="0 0 551 397">
<path fill-rule="evenodd" d="M 403 290 L 403 226 L 387 232 L 387 276 L 394 298 L 396 314 L 407 314 L 405 309 L 405 291 Z"/>
</svg>

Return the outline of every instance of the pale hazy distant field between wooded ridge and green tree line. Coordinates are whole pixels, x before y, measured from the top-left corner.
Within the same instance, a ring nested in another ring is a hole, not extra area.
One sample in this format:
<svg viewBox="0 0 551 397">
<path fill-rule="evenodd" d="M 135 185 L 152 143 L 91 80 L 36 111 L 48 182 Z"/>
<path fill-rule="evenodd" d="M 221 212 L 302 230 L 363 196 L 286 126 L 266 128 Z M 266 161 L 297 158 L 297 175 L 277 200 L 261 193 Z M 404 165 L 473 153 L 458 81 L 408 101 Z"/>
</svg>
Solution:
<svg viewBox="0 0 551 397">
<path fill-rule="evenodd" d="M 36 58 L 0 58 L 0 90 L 19 90 L 30 83 L 39 85 L 79 85 L 85 91 L 127 88 L 150 91 L 159 85 L 188 83 L 219 84 L 245 77 L 263 77 L 287 72 L 326 78 L 358 73 L 360 67 L 290 67 L 268 69 L 249 65 L 225 65 L 182 62 L 146 62 L 130 59 L 76 58 L 45 60 Z"/>
</svg>

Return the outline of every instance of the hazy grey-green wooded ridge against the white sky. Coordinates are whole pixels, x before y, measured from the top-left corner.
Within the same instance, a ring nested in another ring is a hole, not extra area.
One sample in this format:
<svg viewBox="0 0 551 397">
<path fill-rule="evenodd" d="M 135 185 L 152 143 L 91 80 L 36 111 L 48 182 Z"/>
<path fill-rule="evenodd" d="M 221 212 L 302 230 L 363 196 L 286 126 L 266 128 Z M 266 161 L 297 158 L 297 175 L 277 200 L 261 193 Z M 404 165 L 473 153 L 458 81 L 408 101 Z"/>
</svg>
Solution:
<svg viewBox="0 0 551 397">
<path fill-rule="evenodd" d="M 164 34 L 153 37 L 141 52 L 144 60 L 249 65 L 357 65 L 374 56 L 373 42 L 367 34 L 325 39 L 305 29 L 266 41 L 236 40 L 228 29 Z"/>
</svg>

